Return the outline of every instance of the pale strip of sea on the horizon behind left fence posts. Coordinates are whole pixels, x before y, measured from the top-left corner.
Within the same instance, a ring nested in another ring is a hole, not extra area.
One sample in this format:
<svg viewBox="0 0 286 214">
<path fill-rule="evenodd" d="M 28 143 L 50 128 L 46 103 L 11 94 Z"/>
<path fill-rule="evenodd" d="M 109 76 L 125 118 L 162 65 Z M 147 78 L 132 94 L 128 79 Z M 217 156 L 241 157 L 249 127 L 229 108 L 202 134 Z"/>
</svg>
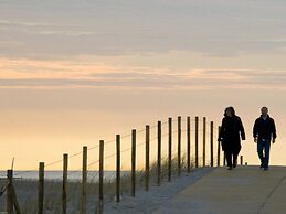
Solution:
<svg viewBox="0 0 286 214">
<path fill-rule="evenodd" d="M 121 175 L 127 175 L 130 171 L 121 171 Z M 14 171 L 13 172 L 14 179 L 24 179 L 24 180 L 38 180 L 39 172 L 38 171 Z M 0 171 L 0 179 L 7 178 L 7 171 Z M 45 180 L 62 180 L 63 179 L 63 171 L 45 171 L 44 173 Z M 104 179 L 105 180 L 115 180 L 116 171 L 105 171 Z M 87 172 L 87 180 L 89 182 L 96 182 L 99 179 L 98 171 L 88 171 Z M 68 171 L 67 172 L 67 180 L 68 181 L 81 181 L 82 180 L 82 171 Z"/>
</svg>

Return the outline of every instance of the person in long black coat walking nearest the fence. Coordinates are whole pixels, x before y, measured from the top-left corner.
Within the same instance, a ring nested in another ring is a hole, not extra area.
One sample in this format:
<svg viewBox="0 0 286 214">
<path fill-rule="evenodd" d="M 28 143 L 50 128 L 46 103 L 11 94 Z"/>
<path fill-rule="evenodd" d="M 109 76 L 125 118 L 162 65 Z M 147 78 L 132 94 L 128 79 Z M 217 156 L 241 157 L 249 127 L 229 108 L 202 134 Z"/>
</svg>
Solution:
<svg viewBox="0 0 286 214">
<path fill-rule="evenodd" d="M 224 111 L 219 141 L 225 152 L 229 170 L 236 168 L 237 157 L 241 151 L 241 138 L 245 140 L 242 120 L 235 115 L 234 108 L 227 107 Z"/>
</svg>

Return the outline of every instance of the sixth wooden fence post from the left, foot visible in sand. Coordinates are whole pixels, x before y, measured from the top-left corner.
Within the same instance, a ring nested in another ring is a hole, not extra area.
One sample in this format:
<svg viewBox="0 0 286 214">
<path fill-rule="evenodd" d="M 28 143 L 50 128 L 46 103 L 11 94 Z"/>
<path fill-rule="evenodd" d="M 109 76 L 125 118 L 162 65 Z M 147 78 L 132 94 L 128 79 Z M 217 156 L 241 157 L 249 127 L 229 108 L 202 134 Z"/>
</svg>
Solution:
<svg viewBox="0 0 286 214">
<path fill-rule="evenodd" d="M 116 135 L 116 202 L 120 202 L 120 135 Z"/>
</svg>

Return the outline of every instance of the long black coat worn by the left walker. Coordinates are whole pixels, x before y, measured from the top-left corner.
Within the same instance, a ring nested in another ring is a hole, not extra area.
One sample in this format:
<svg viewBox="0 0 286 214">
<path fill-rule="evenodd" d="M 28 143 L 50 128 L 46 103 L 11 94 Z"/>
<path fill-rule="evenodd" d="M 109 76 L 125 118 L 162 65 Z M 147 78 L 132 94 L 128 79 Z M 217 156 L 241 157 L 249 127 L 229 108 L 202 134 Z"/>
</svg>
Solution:
<svg viewBox="0 0 286 214">
<path fill-rule="evenodd" d="M 245 132 L 243 124 L 240 117 L 225 116 L 222 120 L 222 126 L 220 129 L 219 141 L 222 142 L 222 149 L 225 151 L 227 149 L 240 149 L 241 148 L 241 137 L 245 140 Z"/>
</svg>

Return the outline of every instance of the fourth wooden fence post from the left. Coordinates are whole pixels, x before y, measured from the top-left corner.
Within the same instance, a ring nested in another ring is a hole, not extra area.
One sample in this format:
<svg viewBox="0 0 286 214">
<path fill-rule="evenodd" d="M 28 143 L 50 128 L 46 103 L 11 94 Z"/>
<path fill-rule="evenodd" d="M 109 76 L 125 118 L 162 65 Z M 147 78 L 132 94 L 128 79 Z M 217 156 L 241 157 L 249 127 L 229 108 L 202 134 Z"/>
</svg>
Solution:
<svg viewBox="0 0 286 214">
<path fill-rule="evenodd" d="M 83 174 L 82 174 L 82 204 L 81 214 L 86 214 L 86 190 L 87 190 L 87 147 L 83 147 Z"/>
</svg>

